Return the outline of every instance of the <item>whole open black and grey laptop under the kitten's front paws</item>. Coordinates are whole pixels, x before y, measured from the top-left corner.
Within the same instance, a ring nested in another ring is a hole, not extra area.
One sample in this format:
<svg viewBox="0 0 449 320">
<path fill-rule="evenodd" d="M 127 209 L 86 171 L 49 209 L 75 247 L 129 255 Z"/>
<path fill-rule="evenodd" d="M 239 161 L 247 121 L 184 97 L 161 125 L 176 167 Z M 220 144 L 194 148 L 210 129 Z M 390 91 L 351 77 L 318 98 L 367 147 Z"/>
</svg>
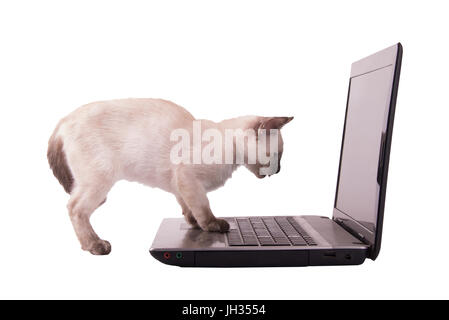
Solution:
<svg viewBox="0 0 449 320">
<path fill-rule="evenodd" d="M 382 240 L 400 43 L 354 62 L 332 218 L 229 217 L 227 233 L 164 219 L 150 249 L 182 267 L 358 265 L 375 260 Z"/>
</svg>

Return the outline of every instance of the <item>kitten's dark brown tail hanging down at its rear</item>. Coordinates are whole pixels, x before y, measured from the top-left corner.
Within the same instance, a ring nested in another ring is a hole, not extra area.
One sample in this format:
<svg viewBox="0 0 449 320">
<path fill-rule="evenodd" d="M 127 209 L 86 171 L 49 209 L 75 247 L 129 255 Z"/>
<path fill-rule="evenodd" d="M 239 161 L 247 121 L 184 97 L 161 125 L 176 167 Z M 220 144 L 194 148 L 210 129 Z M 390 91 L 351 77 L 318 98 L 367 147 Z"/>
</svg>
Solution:
<svg viewBox="0 0 449 320">
<path fill-rule="evenodd" d="M 50 168 L 53 170 L 53 174 L 64 187 L 64 190 L 70 194 L 74 179 L 72 172 L 67 165 L 63 140 L 61 137 L 57 136 L 58 127 L 48 141 L 47 159 Z"/>
</svg>

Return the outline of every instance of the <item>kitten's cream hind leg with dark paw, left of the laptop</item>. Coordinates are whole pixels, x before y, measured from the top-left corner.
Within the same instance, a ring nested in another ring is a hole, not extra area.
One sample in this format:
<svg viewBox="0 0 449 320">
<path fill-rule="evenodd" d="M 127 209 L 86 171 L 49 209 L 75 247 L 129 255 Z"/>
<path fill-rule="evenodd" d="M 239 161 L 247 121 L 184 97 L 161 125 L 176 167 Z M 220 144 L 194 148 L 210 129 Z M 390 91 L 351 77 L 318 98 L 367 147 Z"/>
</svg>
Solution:
<svg viewBox="0 0 449 320">
<path fill-rule="evenodd" d="M 94 255 L 106 255 L 111 252 L 111 244 L 100 239 L 90 223 L 90 216 L 105 201 L 111 187 L 111 183 L 76 185 L 67 204 L 81 248 Z"/>
</svg>

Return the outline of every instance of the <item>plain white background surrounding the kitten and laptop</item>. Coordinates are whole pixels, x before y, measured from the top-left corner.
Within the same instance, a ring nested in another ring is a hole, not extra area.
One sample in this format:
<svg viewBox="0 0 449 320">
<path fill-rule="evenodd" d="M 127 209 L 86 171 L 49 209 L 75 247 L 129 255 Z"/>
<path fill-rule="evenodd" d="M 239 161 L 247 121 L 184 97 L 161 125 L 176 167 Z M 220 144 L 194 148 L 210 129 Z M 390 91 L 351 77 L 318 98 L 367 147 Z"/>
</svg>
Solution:
<svg viewBox="0 0 449 320">
<path fill-rule="evenodd" d="M 447 1 L 0 4 L 0 298 L 449 298 Z M 361 266 L 183 269 L 148 253 L 174 197 L 118 183 L 80 249 L 46 159 L 95 100 L 161 97 L 198 118 L 295 116 L 282 171 L 238 170 L 217 216 L 331 215 L 350 64 L 404 46 L 379 258 Z"/>
</svg>

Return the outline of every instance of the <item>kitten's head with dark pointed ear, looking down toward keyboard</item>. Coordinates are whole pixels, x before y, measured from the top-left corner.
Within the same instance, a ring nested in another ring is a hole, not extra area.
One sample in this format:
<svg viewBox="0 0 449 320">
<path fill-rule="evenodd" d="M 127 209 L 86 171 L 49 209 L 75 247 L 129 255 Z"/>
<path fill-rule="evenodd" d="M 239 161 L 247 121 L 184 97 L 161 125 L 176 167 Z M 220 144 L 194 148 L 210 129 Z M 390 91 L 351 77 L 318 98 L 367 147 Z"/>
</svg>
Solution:
<svg viewBox="0 0 449 320">
<path fill-rule="evenodd" d="M 245 149 L 245 167 L 257 178 L 262 179 L 281 170 L 284 152 L 281 128 L 292 120 L 293 117 L 259 117 L 253 125 L 255 139 L 248 142 Z M 249 161 L 248 151 L 254 148 L 257 150 L 256 161 Z"/>
</svg>

